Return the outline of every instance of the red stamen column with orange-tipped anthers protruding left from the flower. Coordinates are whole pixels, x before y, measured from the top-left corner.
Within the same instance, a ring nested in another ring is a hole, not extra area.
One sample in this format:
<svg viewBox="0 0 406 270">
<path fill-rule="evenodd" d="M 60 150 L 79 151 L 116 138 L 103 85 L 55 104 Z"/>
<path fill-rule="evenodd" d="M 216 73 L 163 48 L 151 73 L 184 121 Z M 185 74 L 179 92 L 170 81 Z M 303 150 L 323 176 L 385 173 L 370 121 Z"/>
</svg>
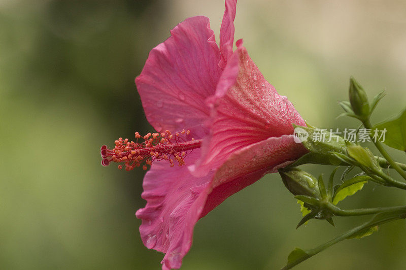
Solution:
<svg viewBox="0 0 406 270">
<path fill-rule="evenodd" d="M 142 137 L 138 132 L 136 142 L 128 139 L 119 138 L 114 143 L 116 146 L 113 149 L 107 148 L 106 145 L 101 146 L 100 154 L 103 160 L 101 165 L 108 166 L 110 162 L 124 163 L 125 170 L 131 171 L 134 167 L 139 167 L 143 164 L 143 170 L 147 170 L 147 165 L 151 165 L 155 160 L 166 160 L 171 167 L 178 162 L 178 166 L 185 164 L 184 158 L 196 148 L 201 146 L 201 140 L 186 141 L 184 135 L 190 134 L 189 130 L 182 130 L 171 134 L 171 131 L 166 130 L 162 133 L 148 133 Z M 143 141 L 139 143 L 139 141 Z M 121 169 L 123 164 L 119 164 Z"/>
</svg>

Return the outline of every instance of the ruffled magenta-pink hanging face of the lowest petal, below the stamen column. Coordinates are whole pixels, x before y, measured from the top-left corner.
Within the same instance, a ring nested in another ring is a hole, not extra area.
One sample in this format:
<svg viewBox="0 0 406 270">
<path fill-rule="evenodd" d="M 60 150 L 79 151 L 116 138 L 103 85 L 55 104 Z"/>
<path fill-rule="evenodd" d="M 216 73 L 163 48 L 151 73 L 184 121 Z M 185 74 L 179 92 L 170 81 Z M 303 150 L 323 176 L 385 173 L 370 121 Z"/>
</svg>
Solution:
<svg viewBox="0 0 406 270">
<path fill-rule="evenodd" d="M 200 155 L 195 149 L 187 161 Z M 145 175 L 142 197 L 145 208 L 137 211 L 142 219 L 141 239 L 149 249 L 166 253 L 162 269 L 178 269 L 192 244 L 194 224 L 204 208 L 213 174 L 196 178 L 186 166 L 170 167 L 166 162 L 154 162 Z"/>
</svg>

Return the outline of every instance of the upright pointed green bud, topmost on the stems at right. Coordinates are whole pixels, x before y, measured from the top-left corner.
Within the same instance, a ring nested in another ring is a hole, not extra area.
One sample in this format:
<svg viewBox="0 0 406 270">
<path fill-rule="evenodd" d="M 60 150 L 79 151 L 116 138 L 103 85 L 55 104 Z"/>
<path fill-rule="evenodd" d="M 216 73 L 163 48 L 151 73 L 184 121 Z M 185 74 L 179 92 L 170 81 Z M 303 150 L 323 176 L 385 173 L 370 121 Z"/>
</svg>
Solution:
<svg viewBox="0 0 406 270">
<path fill-rule="evenodd" d="M 350 78 L 350 103 L 357 116 L 367 117 L 369 115 L 368 96 L 353 77 Z"/>
</svg>

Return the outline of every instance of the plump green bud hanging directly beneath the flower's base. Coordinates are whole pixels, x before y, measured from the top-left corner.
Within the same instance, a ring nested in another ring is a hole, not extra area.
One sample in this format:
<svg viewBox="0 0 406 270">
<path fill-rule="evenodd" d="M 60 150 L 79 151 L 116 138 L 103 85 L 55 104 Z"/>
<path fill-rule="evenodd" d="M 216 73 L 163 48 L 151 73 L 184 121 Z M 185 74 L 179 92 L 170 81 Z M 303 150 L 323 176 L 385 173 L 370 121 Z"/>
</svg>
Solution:
<svg viewBox="0 0 406 270">
<path fill-rule="evenodd" d="M 286 188 L 293 195 L 306 195 L 320 198 L 318 180 L 311 174 L 299 168 L 281 168 L 278 170 Z"/>
</svg>

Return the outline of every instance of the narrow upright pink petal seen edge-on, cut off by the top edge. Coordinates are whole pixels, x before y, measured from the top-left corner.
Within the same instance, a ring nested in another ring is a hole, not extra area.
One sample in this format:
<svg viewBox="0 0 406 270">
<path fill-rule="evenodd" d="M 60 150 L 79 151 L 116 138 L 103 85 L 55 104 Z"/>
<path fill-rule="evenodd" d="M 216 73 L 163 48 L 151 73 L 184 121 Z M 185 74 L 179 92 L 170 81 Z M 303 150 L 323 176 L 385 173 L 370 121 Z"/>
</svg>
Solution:
<svg viewBox="0 0 406 270">
<path fill-rule="evenodd" d="M 220 52 L 221 61 L 219 66 L 224 69 L 227 59 L 232 54 L 232 44 L 234 43 L 234 19 L 237 0 L 225 0 L 225 11 L 220 27 Z"/>
</svg>

